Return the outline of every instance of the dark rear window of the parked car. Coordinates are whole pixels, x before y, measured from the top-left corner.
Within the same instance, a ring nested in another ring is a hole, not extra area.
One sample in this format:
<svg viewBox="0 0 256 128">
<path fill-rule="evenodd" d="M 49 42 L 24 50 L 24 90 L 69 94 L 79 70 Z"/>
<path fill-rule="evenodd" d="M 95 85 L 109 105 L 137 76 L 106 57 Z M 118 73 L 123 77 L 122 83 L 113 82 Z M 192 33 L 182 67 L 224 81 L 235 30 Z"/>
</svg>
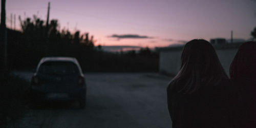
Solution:
<svg viewBox="0 0 256 128">
<path fill-rule="evenodd" d="M 47 61 L 40 65 L 38 73 L 41 74 L 78 74 L 78 67 L 69 61 Z"/>
</svg>

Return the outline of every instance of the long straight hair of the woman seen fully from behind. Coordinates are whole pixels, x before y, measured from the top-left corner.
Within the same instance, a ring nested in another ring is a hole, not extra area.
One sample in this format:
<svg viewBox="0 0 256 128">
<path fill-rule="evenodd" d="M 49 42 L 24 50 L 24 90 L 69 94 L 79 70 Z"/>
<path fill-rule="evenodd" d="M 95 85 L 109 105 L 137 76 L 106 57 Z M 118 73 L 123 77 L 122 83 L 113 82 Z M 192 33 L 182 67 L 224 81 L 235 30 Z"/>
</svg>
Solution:
<svg viewBox="0 0 256 128">
<path fill-rule="evenodd" d="M 191 94 L 202 86 L 215 86 L 226 78 L 214 47 L 204 39 L 193 39 L 185 45 L 181 55 L 179 73 L 168 88 L 176 88 L 183 94 Z"/>
</svg>

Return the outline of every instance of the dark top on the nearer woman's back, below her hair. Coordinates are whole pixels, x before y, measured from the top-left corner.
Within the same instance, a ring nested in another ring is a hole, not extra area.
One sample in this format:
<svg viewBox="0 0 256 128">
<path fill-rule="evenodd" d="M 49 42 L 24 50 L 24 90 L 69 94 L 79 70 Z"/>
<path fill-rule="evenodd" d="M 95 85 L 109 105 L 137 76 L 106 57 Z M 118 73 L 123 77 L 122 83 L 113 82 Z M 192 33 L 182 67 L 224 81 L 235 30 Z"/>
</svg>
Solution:
<svg viewBox="0 0 256 128">
<path fill-rule="evenodd" d="M 216 86 L 204 87 L 192 94 L 179 92 L 183 85 L 169 85 L 167 102 L 173 128 L 234 127 L 237 93 L 228 79 Z M 178 88 L 178 89 L 177 89 Z"/>
</svg>

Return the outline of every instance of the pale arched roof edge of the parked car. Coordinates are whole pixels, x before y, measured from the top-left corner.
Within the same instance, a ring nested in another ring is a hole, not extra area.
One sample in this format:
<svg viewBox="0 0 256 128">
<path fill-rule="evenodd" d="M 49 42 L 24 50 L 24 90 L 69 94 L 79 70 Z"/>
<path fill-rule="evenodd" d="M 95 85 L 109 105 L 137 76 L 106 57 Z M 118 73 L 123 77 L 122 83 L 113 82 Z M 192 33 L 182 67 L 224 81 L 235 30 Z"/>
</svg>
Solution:
<svg viewBox="0 0 256 128">
<path fill-rule="evenodd" d="M 70 62 L 74 62 L 78 66 L 78 69 L 79 69 L 80 73 L 82 73 L 80 65 L 79 65 L 77 59 L 74 58 L 74 57 L 62 57 L 62 56 L 43 57 L 43 58 L 41 58 L 40 62 L 38 63 L 38 66 L 37 66 L 36 69 L 38 70 L 41 63 L 44 63 L 46 61 L 70 61 Z"/>
</svg>

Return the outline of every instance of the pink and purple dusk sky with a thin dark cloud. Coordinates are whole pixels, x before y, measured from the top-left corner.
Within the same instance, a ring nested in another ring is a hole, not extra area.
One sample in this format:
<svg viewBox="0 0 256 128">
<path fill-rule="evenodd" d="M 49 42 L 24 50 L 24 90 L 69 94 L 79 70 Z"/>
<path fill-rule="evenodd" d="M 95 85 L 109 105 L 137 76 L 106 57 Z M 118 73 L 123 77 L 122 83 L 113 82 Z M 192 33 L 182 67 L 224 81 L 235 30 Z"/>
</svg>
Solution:
<svg viewBox="0 0 256 128">
<path fill-rule="evenodd" d="M 11 13 L 25 19 L 34 14 L 58 19 L 60 29 L 89 32 L 95 45 L 164 47 L 194 38 L 249 39 L 256 27 L 256 1 L 252 0 L 6 0 L 7 27 Z"/>
</svg>

